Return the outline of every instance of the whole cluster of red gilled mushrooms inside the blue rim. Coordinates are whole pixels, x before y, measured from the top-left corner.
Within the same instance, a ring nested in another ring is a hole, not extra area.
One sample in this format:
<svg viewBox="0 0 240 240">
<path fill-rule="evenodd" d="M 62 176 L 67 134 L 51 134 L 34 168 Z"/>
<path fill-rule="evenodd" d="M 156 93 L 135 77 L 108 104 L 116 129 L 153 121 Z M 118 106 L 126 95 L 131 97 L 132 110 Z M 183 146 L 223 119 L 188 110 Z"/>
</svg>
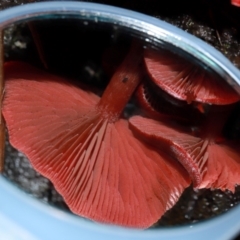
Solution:
<svg viewBox="0 0 240 240">
<path fill-rule="evenodd" d="M 80 216 L 147 228 L 191 184 L 240 184 L 240 144 L 222 135 L 240 96 L 174 53 L 134 43 L 102 96 L 24 62 L 4 70 L 11 144 Z"/>
</svg>

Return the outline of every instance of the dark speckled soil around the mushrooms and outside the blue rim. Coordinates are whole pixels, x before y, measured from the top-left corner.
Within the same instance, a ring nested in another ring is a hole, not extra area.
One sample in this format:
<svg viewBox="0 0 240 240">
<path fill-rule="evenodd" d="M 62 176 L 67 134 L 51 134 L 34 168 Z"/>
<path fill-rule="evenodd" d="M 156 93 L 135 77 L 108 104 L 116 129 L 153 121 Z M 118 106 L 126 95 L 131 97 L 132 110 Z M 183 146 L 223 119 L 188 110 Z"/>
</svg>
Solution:
<svg viewBox="0 0 240 240">
<path fill-rule="evenodd" d="M 27 0 L 2 0 L 0 9 L 20 5 Z M 240 68 L 240 9 L 232 7 L 225 0 L 176 0 L 162 4 L 161 0 L 116 0 L 94 1 L 137 10 L 166 20 L 216 47 L 233 64 Z M 174 9 L 172 9 L 174 6 Z M 39 59 L 26 25 L 12 26 L 5 31 L 5 58 L 33 61 L 40 65 Z M 96 69 L 95 69 L 96 70 Z M 239 106 L 229 120 L 229 137 L 240 137 Z M 236 121 L 238 119 L 238 121 Z M 62 197 L 51 182 L 36 173 L 23 154 L 14 150 L 9 143 L 6 147 L 4 176 L 32 196 L 67 210 Z M 198 190 L 189 188 L 180 201 L 168 211 L 154 226 L 169 226 L 194 223 L 211 218 L 237 205 L 240 202 L 240 188 L 236 193 Z"/>
</svg>

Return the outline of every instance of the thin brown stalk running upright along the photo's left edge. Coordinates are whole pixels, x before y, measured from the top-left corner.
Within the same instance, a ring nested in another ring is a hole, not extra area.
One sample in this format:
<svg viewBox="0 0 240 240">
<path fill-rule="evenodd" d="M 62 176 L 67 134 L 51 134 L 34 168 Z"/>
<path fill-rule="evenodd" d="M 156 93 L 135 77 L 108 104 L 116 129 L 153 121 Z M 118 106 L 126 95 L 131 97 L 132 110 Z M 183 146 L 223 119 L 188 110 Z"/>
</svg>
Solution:
<svg viewBox="0 0 240 240">
<path fill-rule="evenodd" d="M 3 30 L 0 30 L 0 108 L 2 109 L 2 101 L 4 94 L 4 54 L 3 54 Z M 0 115 L 0 172 L 4 168 L 4 150 L 5 150 L 5 122 L 2 114 Z"/>
</svg>

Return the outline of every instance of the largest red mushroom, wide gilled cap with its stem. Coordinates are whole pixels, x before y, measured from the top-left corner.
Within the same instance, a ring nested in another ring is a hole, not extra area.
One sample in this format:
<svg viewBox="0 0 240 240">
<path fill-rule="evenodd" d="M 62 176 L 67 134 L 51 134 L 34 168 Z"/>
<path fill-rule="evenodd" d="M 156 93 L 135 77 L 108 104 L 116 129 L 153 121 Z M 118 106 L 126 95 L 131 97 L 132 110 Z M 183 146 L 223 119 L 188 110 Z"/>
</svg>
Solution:
<svg viewBox="0 0 240 240">
<path fill-rule="evenodd" d="M 146 228 L 190 180 L 121 118 L 140 81 L 140 52 L 133 47 L 101 98 L 28 64 L 7 63 L 3 115 L 11 144 L 54 183 L 74 213 Z"/>
</svg>

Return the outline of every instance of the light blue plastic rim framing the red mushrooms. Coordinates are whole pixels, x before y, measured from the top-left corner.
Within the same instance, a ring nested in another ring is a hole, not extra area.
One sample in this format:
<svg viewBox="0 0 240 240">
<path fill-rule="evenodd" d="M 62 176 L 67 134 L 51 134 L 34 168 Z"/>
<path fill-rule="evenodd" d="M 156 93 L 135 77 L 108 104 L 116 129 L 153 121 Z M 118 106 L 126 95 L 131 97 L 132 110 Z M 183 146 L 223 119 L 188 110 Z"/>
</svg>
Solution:
<svg viewBox="0 0 240 240">
<path fill-rule="evenodd" d="M 192 55 L 217 72 L 240 93 L 240 72 L 220 52 L 200 39 L 150 16 L 107 5 L 42 2 L 0 12 L 0 28 L 25 20 L 74 17 L 108 22 L 147 34 Z M 213 219 L 181 227 L 131 230 L 102 225 L 65 213 L 29 197 L 0 176 L 0 239 L 120 240 L 232 239 L 240 231 L 240 206 Z"/>
</svg>

